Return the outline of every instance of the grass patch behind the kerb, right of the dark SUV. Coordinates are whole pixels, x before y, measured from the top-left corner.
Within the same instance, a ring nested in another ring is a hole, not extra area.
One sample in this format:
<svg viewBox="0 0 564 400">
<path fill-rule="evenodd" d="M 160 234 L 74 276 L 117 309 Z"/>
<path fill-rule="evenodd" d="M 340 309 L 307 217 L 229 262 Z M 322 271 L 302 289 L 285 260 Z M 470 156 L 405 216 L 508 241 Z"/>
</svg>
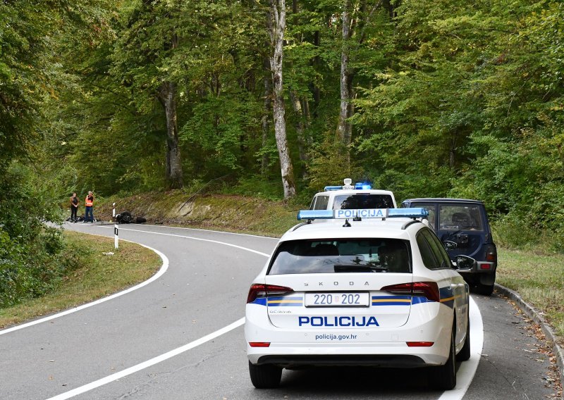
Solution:
<svg viewBox="0 0 564 400">
<path fill-rule="evenodd" d="M 499 249 L 496 281 L 537 308 L 564 345 L 564 255 Z"/>
</svg>

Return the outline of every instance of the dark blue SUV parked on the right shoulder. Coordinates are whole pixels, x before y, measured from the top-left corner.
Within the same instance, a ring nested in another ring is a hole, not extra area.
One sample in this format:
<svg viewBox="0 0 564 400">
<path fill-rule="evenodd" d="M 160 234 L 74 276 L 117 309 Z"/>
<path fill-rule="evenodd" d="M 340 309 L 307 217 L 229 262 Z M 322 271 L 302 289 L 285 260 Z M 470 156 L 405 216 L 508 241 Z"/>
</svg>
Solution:
<svg viewBox="0 0 564 400">
<path fill-rule="evenodd" d="M 429 210 L 429 225 L 441 239 L 451 259 L 464 255 L 474 258 L 472 270 L 460 271 L 468 285 L 480 294 L 490 295 L 496 282 L 498 253 L 491 236 L 484 203 L 469 199 L 407 199 L 401 208 Z"/>
</svg>

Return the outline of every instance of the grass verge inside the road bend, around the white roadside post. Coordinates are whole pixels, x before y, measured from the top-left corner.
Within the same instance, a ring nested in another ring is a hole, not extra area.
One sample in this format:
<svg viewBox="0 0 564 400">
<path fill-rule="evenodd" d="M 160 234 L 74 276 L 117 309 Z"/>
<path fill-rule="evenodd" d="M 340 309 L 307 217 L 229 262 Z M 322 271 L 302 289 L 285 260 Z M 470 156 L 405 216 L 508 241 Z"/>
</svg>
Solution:
<svg viewBox="0 0 564 400">
<path fill-rule="evenodd" d="M 149 249 L 114 239 L 64 232 L 68 251 L 80 253 L 78 265 L 49 294 L 0 309 L 0 327 L 48 315 L 100 299 L 147 280 L 161 266 L 161 258 Z M 114 254 L 110 254 L 114 253 Z"/>
</svg>

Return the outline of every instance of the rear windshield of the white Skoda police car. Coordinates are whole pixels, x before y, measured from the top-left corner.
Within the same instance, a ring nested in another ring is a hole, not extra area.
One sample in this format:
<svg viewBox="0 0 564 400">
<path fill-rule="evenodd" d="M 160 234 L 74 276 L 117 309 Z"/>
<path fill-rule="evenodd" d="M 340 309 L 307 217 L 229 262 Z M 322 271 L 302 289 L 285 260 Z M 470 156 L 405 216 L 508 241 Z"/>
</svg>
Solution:
<svg viewBox="0 0 564 400">
<path fill-rule="evenodd" d="M 410 273 L 409 242 L 400 239 L 317 239 L 283 242 L 268 275 Z"/>
</svg>

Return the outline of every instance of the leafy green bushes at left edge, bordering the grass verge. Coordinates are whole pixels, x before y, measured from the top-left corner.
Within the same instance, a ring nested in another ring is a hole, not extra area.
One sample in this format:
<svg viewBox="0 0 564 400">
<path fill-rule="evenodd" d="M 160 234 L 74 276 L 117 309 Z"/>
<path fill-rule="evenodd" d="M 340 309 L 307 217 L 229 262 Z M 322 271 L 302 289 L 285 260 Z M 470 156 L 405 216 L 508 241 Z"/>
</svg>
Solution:
<svg viewBox="0 0 564 400">
<path fill-rule="evenodd" d="M 61 231 L 45 225 L 60 218 L 48 186 L 17 163 L 0 181 L 0 308 L 41 296 L 72 268 Z"/>
</svg>

